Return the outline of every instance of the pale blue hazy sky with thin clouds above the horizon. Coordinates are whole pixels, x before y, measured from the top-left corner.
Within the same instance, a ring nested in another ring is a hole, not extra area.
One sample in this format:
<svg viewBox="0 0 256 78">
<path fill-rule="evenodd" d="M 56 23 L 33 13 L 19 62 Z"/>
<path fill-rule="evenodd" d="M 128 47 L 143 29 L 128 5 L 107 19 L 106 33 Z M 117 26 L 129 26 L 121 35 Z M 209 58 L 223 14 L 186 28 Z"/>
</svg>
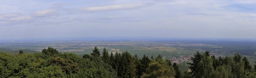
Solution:
<svg viewBox="0 0 256 78">
<path fill-rule="evenodd" d="M 0 0 L 0 39 L 256 38 L 256 0 Z"/>
</svg>

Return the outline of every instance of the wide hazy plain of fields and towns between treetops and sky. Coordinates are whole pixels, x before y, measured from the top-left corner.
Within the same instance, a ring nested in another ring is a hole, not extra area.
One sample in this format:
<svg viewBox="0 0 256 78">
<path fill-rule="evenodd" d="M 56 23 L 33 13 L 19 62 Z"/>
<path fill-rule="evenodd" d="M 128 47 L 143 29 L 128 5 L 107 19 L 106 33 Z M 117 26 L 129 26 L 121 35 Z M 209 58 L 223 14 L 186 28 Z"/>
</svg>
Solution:
<svg viewBox="0 0 256 78">
<path fill-rule="evenodd" d="M 256 62 L 255 41 L 209 41 L 209 40 L 32 40 L 32 41 L 0 41 L 0 51 L 16 54 L 20 49 L 25 53 L 41 52 L 44 48 L 52 47 L 59 52 L 74 53 L 79 56 L 90 54 L 94 47 L 102 52 L 104 48 L 110 54 L 122 53 L 156 57 L 162 55 L 164 59 L 186 65 L 186 62 L 196 51 L 203 53 L 208 50 L 216 57 L 233 56 L 235 53 L 245 55 L 251 65 Z"/>
</svg>

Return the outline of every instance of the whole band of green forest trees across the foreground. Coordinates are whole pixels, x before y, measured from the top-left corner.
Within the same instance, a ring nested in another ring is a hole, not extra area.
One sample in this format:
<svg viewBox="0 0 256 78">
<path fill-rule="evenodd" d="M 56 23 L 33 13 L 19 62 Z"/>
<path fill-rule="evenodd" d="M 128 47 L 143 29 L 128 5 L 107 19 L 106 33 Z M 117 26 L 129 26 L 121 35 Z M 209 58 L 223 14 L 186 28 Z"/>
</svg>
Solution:
<svg viewBox="0 0 256 78">
<path fill-rule="evenodd" d="M 128 51 L 113 54 L 104 49 L 101 53 L 95 47 L 91 54 L 79 57 L 49 47 L 34 54 L 20 50 L 15 56 L 0 52 L 0 78 L 256 78 L 255 69 L 240 54 L 223 58 L 205 51 L 191 60 L 190 71 L 180 72 L 176 63 L 161 55 L 139 58 Z"/>
</svg>

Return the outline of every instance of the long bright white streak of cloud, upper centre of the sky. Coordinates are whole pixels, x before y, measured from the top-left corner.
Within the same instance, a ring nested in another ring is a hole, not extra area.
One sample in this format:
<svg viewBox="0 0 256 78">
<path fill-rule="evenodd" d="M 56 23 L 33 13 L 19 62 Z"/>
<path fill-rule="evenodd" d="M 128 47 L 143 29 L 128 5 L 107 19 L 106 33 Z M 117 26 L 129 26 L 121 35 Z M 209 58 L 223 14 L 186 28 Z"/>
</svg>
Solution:
<svg viewBox="0 0 256 78">
<path fill-rule="evenodd" d="M 108 6 L 98 6 L 98 7 L 83 7 L 83 8 L 73 8 L 68 9 L 72 12 L 101 12 L 101 11 L 117 11 L 117 10 L 127 10 L 127 9 L 138 9 L 150 5 L 148 4 L 119 4 L 119 5 L 108 5 Z"/>
</svg>

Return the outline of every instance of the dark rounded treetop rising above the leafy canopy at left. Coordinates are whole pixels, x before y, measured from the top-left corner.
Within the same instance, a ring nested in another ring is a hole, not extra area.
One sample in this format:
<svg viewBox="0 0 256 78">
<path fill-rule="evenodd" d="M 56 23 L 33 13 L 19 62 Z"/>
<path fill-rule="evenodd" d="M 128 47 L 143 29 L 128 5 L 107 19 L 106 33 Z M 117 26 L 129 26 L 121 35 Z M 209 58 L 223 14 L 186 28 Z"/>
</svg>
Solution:
<svg viewBox="0 0 256 78">
<path fill-rule="evenodd" d="M 59 54 L 59 52 L 56 49 L 51 48 L 51 47 L 48 47 L 48 49 L 44 48 L 42 53 L 44 53 L 45 55 L 48 55 L 48 56 L 53 56 L 53 55 Z"/>
</svg>

